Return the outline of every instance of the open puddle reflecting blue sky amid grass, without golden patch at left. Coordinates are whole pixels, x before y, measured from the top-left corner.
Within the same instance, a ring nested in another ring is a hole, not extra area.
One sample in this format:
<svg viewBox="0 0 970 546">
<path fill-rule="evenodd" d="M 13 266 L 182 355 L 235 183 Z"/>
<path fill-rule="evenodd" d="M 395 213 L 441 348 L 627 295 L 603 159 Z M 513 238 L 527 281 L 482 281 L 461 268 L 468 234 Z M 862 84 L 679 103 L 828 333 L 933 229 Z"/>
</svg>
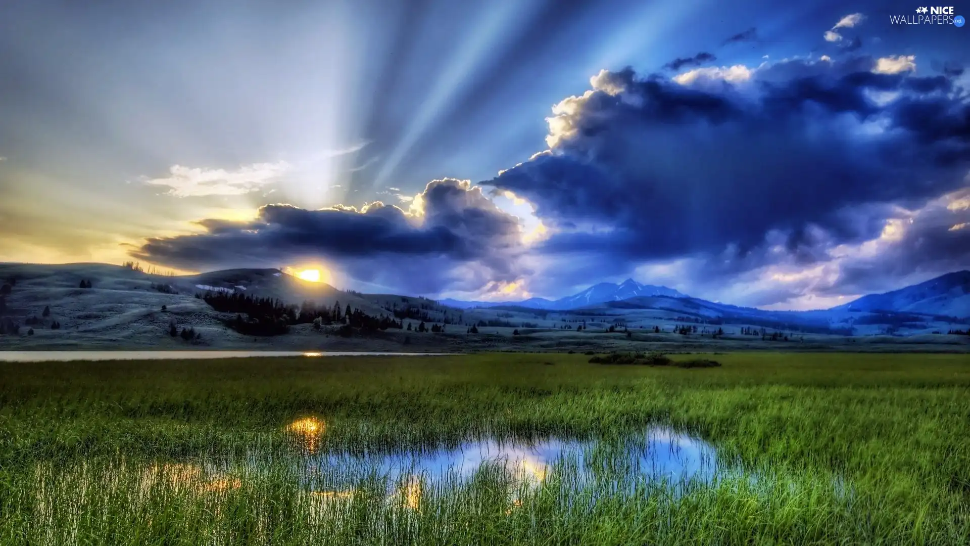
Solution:
<svg viewBox="0 0 970 546">
<path fill-rule="evenodd" d="M 710 483 L 719 470 L 712 445 L 664 427 L 609 442 L 485 438 L 436 449 L 317 453 L 325 429 L 325 423 L 314 418 L 287 427 L 306 450 L 298 470 L 304 485 L 313 495 L 332 499 L 349 498 L 355 484 L 364 480 L 383 480 L 387 495 L 413 499 L 422 489 L 467 484 L 480 473 L 500 479 L 512 490 L 538 488 L 558 470 L 558 477 L 570 487 L 613 483 L 630 491 L 647 482 L 675 489 Z"/>
</svg>

